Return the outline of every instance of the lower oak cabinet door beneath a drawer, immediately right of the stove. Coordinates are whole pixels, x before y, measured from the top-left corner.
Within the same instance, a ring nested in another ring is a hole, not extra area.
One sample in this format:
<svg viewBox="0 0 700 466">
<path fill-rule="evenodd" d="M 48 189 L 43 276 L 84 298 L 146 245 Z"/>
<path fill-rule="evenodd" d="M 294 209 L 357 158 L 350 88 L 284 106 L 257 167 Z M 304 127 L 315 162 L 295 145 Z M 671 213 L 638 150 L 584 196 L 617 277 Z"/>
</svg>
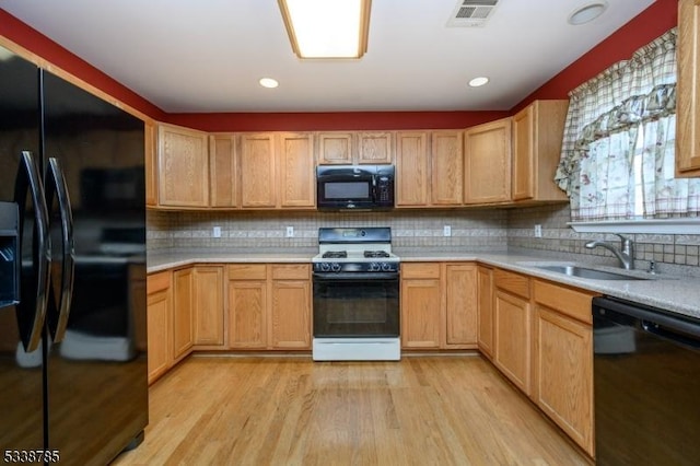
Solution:
<svg viewBox="0 0 700 466">
<path fill-rule="evenodd" d="M 401 280 L 401 347 L 440 348 L 440 280 Z"/>
</svg>

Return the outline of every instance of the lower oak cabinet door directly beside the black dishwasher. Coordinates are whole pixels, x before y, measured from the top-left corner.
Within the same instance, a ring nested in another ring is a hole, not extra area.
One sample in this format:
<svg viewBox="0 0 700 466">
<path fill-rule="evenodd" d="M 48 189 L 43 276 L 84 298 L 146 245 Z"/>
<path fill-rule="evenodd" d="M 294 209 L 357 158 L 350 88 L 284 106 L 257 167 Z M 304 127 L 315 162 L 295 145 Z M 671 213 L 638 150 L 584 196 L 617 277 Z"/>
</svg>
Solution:
<svg viewBox="0 0 700 466">
<path fill-rule="evenodd" d="M 535 401 L 593 456 L 591 326 L 538 305 L 535 341 Z"/>
</svg>

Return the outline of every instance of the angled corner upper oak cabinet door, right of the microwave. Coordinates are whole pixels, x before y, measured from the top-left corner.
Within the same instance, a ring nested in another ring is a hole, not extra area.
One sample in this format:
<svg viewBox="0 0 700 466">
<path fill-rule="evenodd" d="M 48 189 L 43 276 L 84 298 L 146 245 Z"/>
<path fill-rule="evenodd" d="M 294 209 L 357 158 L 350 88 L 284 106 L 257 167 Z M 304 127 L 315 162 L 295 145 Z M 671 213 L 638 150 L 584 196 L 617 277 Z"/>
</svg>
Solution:
<svg viewBox="0 0 700 466">
<path fill-rule="evenodd" d="M 511 118 L 468 128 L 464 137 L 465 203 L 511 200 Z"/>
</svg>

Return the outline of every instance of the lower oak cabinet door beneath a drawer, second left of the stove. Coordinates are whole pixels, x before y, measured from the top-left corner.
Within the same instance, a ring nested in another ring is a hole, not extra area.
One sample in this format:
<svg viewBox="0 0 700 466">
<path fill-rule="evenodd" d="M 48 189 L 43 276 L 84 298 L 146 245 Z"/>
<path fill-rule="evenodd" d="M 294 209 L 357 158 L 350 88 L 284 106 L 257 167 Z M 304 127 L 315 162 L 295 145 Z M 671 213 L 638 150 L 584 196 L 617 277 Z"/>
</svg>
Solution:
<svg viewBox="0 0 700 466">
<path fill-rule="evenodd" d="M 267 281 L 229 281 L 229 347 L 267 347 Z"/>
</svg>

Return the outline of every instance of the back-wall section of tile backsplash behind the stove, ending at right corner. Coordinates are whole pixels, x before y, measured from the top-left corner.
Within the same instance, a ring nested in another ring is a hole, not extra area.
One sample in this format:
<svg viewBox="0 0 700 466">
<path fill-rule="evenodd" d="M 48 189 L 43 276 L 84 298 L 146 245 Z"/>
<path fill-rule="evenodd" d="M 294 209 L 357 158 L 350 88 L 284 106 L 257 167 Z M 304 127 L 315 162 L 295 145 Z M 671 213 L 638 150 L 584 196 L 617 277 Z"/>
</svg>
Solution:
<svg viewBox="0 0 700 466">
<path fill-rule="evenodd" d="M 149 211 L 149 252 L 220 249 L 230 252 L 318 248 L 322 226 L 390 226 L 395 248 L 494 251 L 508 247 L 504 210 L 395 210 L 392 212 L 166 212 Z M 444 236 L 444 226 L 451 236 Z M 221 237 L 213 237 L 214 226 Z M 287 237 L 287 228 L 294 236 Z"/>
</svg>

